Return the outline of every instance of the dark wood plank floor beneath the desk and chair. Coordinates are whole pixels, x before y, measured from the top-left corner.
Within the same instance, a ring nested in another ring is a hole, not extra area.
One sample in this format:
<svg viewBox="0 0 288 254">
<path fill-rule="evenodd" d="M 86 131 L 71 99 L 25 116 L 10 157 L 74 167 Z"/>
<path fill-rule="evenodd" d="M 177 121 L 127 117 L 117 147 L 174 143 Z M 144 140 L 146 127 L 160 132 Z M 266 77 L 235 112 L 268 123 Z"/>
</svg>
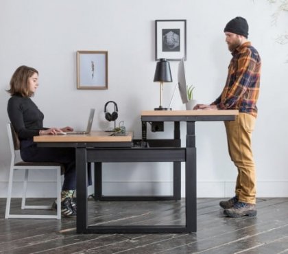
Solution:
<svg viewBox="0 0 288 254">
<path fill-rule="evenodd" d="M 197 233 L 83 235 L 71 218 L 5 220 L 0 198 L 0 253 L 288 253 L 288 198 L 259 198 L 255 218 L 227 218 L 219 200 L 197 199 Z M 20 210 L 20 200 L 12 200 L 12 211 Z M 90 224 L 184 224 L 184 218 L 184 199 L 88 202 Z"/>
</svg>

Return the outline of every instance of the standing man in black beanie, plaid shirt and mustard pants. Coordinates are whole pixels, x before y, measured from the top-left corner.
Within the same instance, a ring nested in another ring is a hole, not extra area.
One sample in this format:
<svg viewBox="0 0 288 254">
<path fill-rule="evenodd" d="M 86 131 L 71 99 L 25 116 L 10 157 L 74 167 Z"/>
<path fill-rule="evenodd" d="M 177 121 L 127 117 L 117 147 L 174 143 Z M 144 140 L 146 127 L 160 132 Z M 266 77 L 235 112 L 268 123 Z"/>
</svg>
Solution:
<svg viewBox="0 0 288 254">
<path fill-rule="evenodd" d="M 238 176 L 235 197 L 221 201 L 220 207 L 230 217 L 256 216 L 256 176 L 252 154 L 252 131 L 257 116 L 261 59 L 248 41 L 248 23 L 241 16 L 224 28 L 232 59 L 221 95 L 210 105 L 197 104 L 194 109 L 237 109 L 235 121 L 225 122 L 228 150 Z"/>
</svg>

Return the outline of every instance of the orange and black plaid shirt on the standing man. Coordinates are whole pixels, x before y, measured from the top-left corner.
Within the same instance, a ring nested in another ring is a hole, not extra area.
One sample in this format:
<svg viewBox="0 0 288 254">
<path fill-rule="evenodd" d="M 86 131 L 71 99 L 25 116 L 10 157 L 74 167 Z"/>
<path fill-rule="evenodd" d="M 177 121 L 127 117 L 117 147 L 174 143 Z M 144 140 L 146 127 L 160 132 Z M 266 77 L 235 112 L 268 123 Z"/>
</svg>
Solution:
<svg viewBox="0 0 288 254">
<path fill-rule="evenodd" d="M 226 85 L 212 104 L 218 109 L 238 109 L 241 113 L 257 116 L 261 58 L 250 42 L 232 51 Z"/>
</svg>

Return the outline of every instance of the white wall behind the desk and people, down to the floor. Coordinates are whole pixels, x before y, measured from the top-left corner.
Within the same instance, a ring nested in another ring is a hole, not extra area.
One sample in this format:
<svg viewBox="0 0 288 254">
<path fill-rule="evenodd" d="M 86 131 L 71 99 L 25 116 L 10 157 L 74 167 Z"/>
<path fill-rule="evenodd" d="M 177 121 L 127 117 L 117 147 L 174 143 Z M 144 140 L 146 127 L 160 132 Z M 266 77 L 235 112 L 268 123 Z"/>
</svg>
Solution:
<svg viewBox="0 0 288 254">
<path fill-rule="evenodd" d="M 276 25 L 272 14 L 279 1 L 252 0 L 1 0 L 0 1 L 0 197 L 7 192 L 10 154 L 5 124 L 10 77 L 19 65 L 40 72 L 40 86 L 33 100 L 45 113 L 45 126 L 84 128 L 88 109 L 96 108 L 93 129 L 104 129 L 104 104 L 115 100 L 119 119 L 135 138 L 141 137 L 141 110 L 159 103 L 159 85 L 153 82 L 154 21 L 187 19 L 187 80 L 195 88 L 199 102 L 210 103 L 226 80 L 230 60 L 224 26 L 235 16 L 244 16 L 250 25 L 250 40 L 263 60 L 259 117 L 254 131 L 254 156 L 258 176 L 258 196 L 288 196 L 287 172 L 287 77 L 288 45 L 275 38 L 287 32 L 288 14 Z M 108 51 L 106 91 L 76 89 L 76 51 Z M 165 84 L 164 105 L 169 104 L 177 82 L 178 62 L 171 62 L 173 84 Z M 173 109 L 184 109 L 179 94 Z M 112 110 L 112 108 L 110 108 Z M 112 124 L 110 124 L 112 126 Z M 184 138 L 185 126 L 181 124 Z M 148 137 L 171 137 L 165 132 L 149 132 Z M 224 124 L 198 122 L 197 195 L 232 196 L 236 169 L 226 147 Z M 169 170 L 167 170 L 167 168 Z M 19 179 L 21 179 L 19 175 Z M 36 174 L 30 196 L 53 195 L 51 176 Z M 183 179 L 184 180 L 184 179 Z M 123 163 L 104 165 L 106 194 L 169 194 L 171 163 Z M 129 185 L 128 185 L 129 183 Z M 14 196 L 19 196 L 19 186 Z M 184 189 L 184 185 L 183 185 Z M 91 190 L 92 192 L 92 190 Z M 184 192 L 183 192 L 184 196 Z"/>
</svg>

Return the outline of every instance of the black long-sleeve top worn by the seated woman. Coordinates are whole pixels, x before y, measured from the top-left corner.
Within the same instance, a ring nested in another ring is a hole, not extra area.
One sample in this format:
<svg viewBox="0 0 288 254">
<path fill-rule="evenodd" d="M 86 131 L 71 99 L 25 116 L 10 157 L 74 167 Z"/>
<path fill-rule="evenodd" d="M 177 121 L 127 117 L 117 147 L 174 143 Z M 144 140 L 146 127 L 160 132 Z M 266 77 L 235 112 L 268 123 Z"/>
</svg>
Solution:
<svg viewBox="0 0 288 254">
<path fill-rule="evenodd" d="M 29 97 L 12 95 L 7 107 L 10 122 L 19 136 L 19 140 L 33 139 L 43 130 L 43 113 Z"/>
</svg>

